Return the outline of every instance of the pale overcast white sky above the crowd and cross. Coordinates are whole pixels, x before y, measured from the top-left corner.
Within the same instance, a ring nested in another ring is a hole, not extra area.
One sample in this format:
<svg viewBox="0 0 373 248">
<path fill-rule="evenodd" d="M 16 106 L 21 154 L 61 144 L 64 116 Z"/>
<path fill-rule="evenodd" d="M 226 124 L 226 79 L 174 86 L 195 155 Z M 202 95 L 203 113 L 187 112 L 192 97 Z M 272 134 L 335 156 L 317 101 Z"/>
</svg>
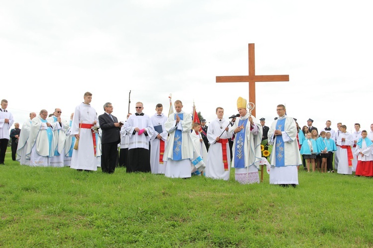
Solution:
<svg viewBox="0 0 373 248">
<path fill-rule="evenodd" d="M 215 108 L 237 113 L 248 83 L 215 83 L 248 75 L 255 43 L 256 75 L 289 82 L 256 83 L 257 118 L 271 125 L 277 104 L 299 126 L 312 118 L 353 129 L 373 123 L 373 15 L 370 1 L 334 0 L 0 0 L 0 98 L 22 123 L 31 111 L 62 109 L 65 119 L 93 93 L 124 120 L 135 103 L 151 115 L 193 101 L 207 122 Z"/>
</svg>

